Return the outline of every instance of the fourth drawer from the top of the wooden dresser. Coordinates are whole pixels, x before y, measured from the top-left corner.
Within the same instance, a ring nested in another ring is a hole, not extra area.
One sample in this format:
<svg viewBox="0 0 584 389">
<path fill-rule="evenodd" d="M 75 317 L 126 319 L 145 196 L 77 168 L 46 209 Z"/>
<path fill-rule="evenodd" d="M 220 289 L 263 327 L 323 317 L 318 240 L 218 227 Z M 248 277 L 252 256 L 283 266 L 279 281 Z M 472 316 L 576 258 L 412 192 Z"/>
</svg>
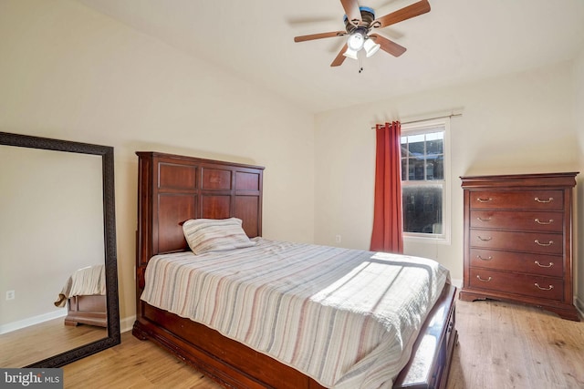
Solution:
<svg viewBox="0 0 584 389">
<path fill-rule="evenodd" d="M 554 255 L 471 249 L 470 262 L 473 267 L 492 270 L 516 271 L 548 277 L 564 275 L 563 258 Z"/>
</svg>

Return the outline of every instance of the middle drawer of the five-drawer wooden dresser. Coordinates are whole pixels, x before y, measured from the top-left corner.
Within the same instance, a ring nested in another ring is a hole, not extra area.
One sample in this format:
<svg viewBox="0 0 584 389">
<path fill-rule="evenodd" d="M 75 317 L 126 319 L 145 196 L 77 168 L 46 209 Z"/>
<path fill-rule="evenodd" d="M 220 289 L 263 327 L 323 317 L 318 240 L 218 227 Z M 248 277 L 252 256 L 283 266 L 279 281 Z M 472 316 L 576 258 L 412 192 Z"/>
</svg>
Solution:
<svg viewBox="0 0 584 389">
<path fill-rule="evenodd" d="M 542 254 L 564 252 L 562 234 L 544 232 L 516 232 L 502 230 L 470 230 L 469 245 L 472 248 L 527 251 Z"/>
</svg>

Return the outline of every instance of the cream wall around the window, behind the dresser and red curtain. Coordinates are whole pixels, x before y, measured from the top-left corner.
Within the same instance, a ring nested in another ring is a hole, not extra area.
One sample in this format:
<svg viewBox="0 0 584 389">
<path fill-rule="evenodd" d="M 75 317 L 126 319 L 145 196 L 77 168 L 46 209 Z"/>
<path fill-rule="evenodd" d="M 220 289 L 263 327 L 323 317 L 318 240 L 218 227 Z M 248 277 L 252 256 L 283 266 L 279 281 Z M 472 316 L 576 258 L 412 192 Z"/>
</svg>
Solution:
<svg viewBox="0 0 584 389">
<path fill-rule="evenodd" d="M 372 225 L 375 123 L 438 116 L 452 109 L 452 242 L 405 243 L 462 280 L 463 197 L 459 176 L 578 171 L 573 64 L 393 98 L 316 116 L 315 241 L 368 249 Z M 581 130 L 581 127 L 580 127 Z M 580 137 L 581 146 L 581 137 Z"/>
</svg>

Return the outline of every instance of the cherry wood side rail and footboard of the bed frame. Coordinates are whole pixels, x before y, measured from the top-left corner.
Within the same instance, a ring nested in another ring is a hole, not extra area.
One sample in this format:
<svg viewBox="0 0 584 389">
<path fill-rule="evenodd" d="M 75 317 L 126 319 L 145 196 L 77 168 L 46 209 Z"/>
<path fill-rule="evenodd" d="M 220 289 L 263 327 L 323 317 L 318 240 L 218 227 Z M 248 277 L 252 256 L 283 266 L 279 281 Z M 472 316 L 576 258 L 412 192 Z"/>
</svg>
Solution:
<svg viewBox="0 0 584 389">
<path fill-rule="evenodd" d="M 446 285 L 394 388 L 445 387 L 457 337 L 454 293 L 455 288 Z M 142 316 L 134 323 L 134 336 L 158 343 L 225 387 L 323 388 L 312 378 L 203 324 L 141 304 Z"/>
</svg>

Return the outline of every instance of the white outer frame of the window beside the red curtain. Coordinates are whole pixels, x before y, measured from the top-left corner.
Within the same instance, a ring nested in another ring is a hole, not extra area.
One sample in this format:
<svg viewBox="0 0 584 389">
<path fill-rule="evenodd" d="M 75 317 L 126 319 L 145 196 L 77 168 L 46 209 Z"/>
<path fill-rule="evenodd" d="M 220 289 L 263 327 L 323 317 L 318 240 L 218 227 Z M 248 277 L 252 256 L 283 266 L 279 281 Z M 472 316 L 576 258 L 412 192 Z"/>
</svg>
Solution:
<svg viewBox="0 0 584 389">
<path fill-rule="evenodd" d="M 443 138 L 443 153 L 444 153 L 444 179 L 443 179 L 443 226 L 442 234 L 425 234 L 418 232 L 405 232 L 403 233 L 403 241 L 408 241 L 412 243 L 443 243 L 450 244 L 451 240 L 451 230 L 452 230 L 452 203 L 451 203 L 451 190 L 452 185 L 451 172 L 450 172 L 450 117 L 446 118 L 435 118 L 429 120 L 420 120 L 412 123 L 404 123 L 401 125 L 401 136 L 416 135 L 426 132 L 430 128 L 444 128 L 444 138 Z M 427 181 L 423 181 L 427 182 Z M 401 204 L 403 206 L 403 204 Z"/>
</svg>

